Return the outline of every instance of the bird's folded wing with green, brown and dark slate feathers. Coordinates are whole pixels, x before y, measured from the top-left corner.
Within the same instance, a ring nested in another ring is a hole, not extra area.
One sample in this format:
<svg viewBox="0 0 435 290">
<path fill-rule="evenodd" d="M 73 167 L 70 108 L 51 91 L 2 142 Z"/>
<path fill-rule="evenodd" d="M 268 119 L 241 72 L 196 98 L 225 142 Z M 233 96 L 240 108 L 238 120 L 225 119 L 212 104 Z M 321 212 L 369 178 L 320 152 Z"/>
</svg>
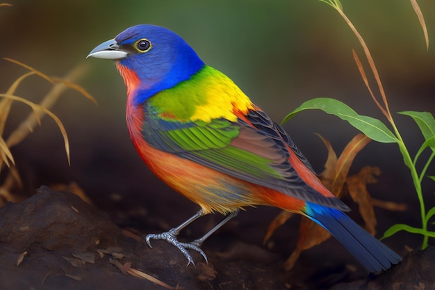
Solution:
<svg viewBox="0 0 435 290">
<path fill-rule="evenodd" d="M 233 177 L 301 200 L 348 210 L 343 202 L 321 195 L 299 177 L 289 161 L 290 154 L 297 154 L 312 168 L 278 124 L 261 111 L 249 111 L 245 117 L 249 122 L 241 119 L 177 122 L 145 111 L 142 136 L 158 150 Z"/>
</svg>

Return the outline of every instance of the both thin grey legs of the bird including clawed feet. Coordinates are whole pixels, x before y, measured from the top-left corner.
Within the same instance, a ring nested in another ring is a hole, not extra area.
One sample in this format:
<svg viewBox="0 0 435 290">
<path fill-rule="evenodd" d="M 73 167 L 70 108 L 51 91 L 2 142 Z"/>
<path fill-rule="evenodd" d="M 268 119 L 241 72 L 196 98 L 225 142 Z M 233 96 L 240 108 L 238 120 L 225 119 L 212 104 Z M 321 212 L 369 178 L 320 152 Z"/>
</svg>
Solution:
<svg viewBox="0 0 435 290">
<path fill-rule="evenodd" d="M 209 230 L 206 234 L 204 234 L 204 236 L 202 236 L 201 238 L 196 239 L 195 241 L 192 241 L 190 243 L 181 243 L 180 241 L 177 240 L 177 236 L 180 233 L 181 229 L 183 229 L 184 227 L 186 227 L 187 225 L 189 225 L 193 221 L 197 220 L 197 218 L 200 218 L 200 217 L 206 215 L 204 213 L 204 211 L 202 211 L 202 210 L 198 211 L 195 215 L 191 216 L 188 220 L 186 220 L 184 223 L 182 223 L 178 227 L 174 227 L 173 229 L 170 229 L 167 232 L 164 232 L 162 234 L 148 234 L 147 237 L 145 238 L 145 241 L 147 241 L 147 244 L 149 245 L 150 248 L 152 248 L 151 243 L 150 243 L 151 239 L 165 240 L 168 243 L 172 243 L 172 245 L 177 247 L 177 249 L 179 249 L 180 252 L 183 253 L 184 257 L 186 257 L 186 259 L 188 259 L 188 266 L 190 263 L 192 263 L 195 266 L 195 262 L 193 261 L 192 257 L 190 256 L 188 250 L 186 250 L 186 249 L 195 250 L 195 251 L 199 252 L 199 254 L 201 254 L 202 257 L 204 257 L 204 260 L 206 260 L 206 263 L 208 264 L 208 259 L 207 259 L 206 253 L 203 250 L 201 250 L 201 248 L 199 248 L 199 247 L 208 238 L 208 236 L 211 236 L 211 234 L 216 232 L 217 229 L 220 229 L 220 227 L 222 227 L 222 225 L 226 224 L 229 220 L 231 220 L 231 218 L 237 216 L 237 214 L 238 214 L 238 210 L 233 211 L 231 214 L 226 216 L 220 223 L 215 225 L 211 230 Z"/>
</svg>

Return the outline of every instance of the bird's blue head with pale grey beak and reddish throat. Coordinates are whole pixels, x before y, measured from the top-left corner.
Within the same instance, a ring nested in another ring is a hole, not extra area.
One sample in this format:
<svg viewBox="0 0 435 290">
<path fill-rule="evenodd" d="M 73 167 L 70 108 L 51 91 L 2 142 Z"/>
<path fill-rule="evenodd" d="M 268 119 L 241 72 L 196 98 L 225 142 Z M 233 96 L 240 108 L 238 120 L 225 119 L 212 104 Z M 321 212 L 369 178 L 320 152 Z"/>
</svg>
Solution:
<svg viewBox="0 0 435 290">
<path fill-rule="evenodd" d="M 176 33 L 161 26 L 132 26 L 88 55 L 114 59 L 133 102 L 186 81 L 204 67 L 195 51 Z"/>
</svg>

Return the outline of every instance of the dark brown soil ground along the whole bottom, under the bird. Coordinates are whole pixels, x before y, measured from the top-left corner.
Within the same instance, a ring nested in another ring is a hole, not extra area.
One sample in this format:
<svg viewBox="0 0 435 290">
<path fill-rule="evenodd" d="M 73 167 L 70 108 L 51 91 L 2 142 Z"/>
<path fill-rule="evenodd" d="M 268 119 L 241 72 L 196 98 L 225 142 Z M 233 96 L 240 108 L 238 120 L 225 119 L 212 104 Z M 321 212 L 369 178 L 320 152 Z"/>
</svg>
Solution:
<svg viewBox="0 0 435 290">
<path fill-rule="evenodd" d="M 340 263 L 345 250 L 328 241 L 286 272 L 284 255 L 238 239 L 232 231 L 240 229 L 230 223 L 204 243 L 209 264 L 192 252 L 196 266 L 186 266 L 165 241 L 152 241 L 149 248 L 145 233 L 121 229 L 77 195 L 42 186 L 31 198 L 0 209 L 0 289 L 165 289 L 130 275 L 131 268 L 174 289 L 435 289 L 435 247 L 409 252 L 376 276 L 351 258 Z"/>
</svg>

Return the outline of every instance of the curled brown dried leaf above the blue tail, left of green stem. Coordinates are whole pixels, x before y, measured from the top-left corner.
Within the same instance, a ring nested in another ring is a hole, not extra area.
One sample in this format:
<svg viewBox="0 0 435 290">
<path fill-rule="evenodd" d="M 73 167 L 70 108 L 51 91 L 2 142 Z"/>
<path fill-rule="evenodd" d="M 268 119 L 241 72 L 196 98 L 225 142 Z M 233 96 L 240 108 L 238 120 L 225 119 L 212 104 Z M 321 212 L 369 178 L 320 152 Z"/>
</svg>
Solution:
<svg viewBox="0 0 435 290">
<path fill-rule="evenodd" d="M 352 200 L 359 205 L 359 213 L 366 223 L 366 230 L 372 235 L 375 235 L 375 227 L 377 220 L 373 209 L 372 198 L 367 191 L 367 184 L 377 182 L 375 176 L 379 176 L 381 170 L 377 167 L 366 166 L 361 169 L 356 175 L 347 177 L 347 189 L 352 197 Z"/>
</svg>

